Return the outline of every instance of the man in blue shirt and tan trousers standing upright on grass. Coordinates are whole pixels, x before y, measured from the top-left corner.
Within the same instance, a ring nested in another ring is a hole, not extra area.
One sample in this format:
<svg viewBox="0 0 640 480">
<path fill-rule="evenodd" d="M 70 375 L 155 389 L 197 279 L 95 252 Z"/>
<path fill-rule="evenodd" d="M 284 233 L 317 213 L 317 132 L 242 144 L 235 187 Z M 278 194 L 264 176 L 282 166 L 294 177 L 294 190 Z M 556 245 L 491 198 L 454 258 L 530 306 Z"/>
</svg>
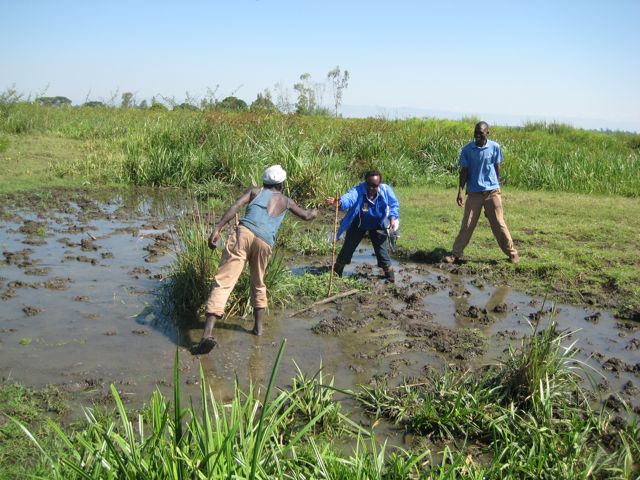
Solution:
<svg viewBox="0 0 640 480">
<path fill-rule="evenodd" d="M 478 122 L 473 132 L 475 141 L 465 145 L 460 152 L 460 179 L 456 201 L 458 206 L 462 207 L 462 189 L 466 185 L 467 203 L 464 205 L 462 225 L 455 242 L 453 242 L 453 250 L 450 255 L 444 257 L 444 261 L 447 263 L 455 263 L 462 258 L 464 249 L 478 224 L 483 207 L 493 236 L 502 251 L 510 262 L 518 263 L 520 261 L 502 211 L 500 196 L 502 151 L 500 145 L 489 140 L 488 136 L 489 125 L 487 122 Z"/>
</svg>

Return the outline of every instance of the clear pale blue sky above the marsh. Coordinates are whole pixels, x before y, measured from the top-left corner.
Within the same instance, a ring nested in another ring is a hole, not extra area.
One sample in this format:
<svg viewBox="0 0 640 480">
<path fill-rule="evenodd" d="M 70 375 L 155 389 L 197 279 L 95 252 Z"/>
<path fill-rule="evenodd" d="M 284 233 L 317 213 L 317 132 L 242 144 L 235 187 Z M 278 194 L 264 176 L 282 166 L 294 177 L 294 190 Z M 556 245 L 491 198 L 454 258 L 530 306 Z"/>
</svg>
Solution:
<svg viewBox="0 0 640 480">
<path fill-rule="evenodd" d="M 640 1 L 0 0 L 0 89 L 74 103 L 219 85 L 251 102 L 349 70 L 345 113 L 640 131 Z M 331 100 L 327 90 L 325 101 Z M 349 107 L 349 108 L 348 108 Z M 367 110 L 369 109 L 369 110 Z M 373 109 L 373 110 L 372 110 Z"/>
</svg>

